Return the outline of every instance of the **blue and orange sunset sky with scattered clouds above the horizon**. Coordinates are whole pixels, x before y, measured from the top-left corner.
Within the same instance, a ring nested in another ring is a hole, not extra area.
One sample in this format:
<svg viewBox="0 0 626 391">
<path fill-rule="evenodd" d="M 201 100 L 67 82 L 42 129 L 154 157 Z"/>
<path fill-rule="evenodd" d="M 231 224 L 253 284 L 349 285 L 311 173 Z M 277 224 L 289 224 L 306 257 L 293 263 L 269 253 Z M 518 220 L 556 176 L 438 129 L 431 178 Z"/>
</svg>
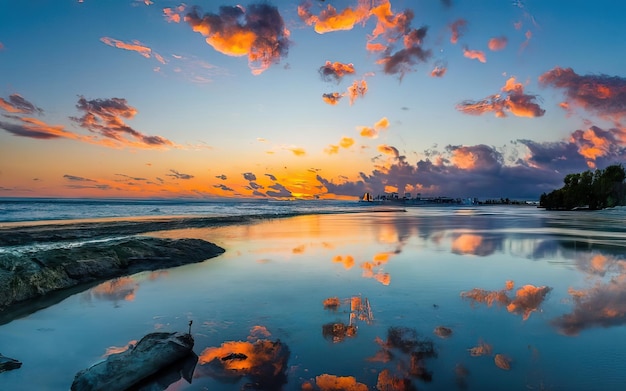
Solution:
<svg viewBox="0 0 626 391">
<path fill-rule="evenodd" d="M 626 160 L 624 14 L 0 1 L 0 197 L 538 199 Z"/>
</svg>

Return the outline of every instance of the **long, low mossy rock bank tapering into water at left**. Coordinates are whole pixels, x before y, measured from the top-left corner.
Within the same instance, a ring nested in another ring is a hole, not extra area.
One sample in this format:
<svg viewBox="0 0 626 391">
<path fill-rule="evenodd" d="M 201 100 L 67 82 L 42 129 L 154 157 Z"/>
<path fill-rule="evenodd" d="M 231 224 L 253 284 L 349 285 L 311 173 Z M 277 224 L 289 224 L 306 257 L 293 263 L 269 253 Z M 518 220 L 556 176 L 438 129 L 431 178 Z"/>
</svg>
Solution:
<svg viewBox="0 0 626 391">
<path fill-rule="evenodd" d="M 140 271 L 202 262 L 223 252 L 223 248 L 200 239 L 131 237 L 35 252 L 2 253 L 0 312 L 4 314 L 0 324 L 14 312 L 14 308 L 4 310 L 16 303 Z"/>
</svg>

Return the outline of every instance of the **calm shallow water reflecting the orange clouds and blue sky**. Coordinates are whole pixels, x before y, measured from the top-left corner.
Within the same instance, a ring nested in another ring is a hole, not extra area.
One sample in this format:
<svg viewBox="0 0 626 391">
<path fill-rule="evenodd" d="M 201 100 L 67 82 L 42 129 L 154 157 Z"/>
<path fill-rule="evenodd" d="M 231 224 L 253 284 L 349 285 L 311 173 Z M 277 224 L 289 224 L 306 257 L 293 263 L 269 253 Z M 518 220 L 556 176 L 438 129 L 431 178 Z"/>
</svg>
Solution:
<svg viewBox="0 0 626 391">
<path fill-rule="evenodd" d="M 384 369 L 420 390 L 621 390 L 625 216 L 622 209 L 409 208 L 153 233 L 202 238 L 227 251 L 109 281 L 0 326 L 0 352 L 24 363 L 0 374 L 0 388 L 69 389 L 76 372 L 108 348 L 155 330 L 185 331 L 193 320 L 200 356 L 226 341 L 285 343 L 284 390 L 322 374 L 352 376 L 375 390 Z M 514 287 L 507 290 L 507 281 Z M 550 289 L 530 297 L 536 291 L 526 285 Z M 489 306 L 462 296 L 474 288 L 500 291 L 508 301 Z M 323 306 L 330 297 L 341 300 L 336 311 Z M 373 319 L 354 320 L 355 336 L 325 337 L 323 325 L 350 322 L 354 297 L 368 299 Z M 438 326 L 452 334 L 438 337 Z M 436 357 L 423 361 L 432 381 L 409 376 L 410 357 L 397 348 L 387 345 L 393 357 L 381 360 L 376 339 L 386 340 L 392 327 L 433 342 Z M 480 343 L 491 354 L 472 356 Z M 496 354 L 510 358 L 510 370 L 496 366 Z M 198 364 L 191 384 L 168 389 L 233 390 L 250 382 L 212 374 Z"/>
</svg>

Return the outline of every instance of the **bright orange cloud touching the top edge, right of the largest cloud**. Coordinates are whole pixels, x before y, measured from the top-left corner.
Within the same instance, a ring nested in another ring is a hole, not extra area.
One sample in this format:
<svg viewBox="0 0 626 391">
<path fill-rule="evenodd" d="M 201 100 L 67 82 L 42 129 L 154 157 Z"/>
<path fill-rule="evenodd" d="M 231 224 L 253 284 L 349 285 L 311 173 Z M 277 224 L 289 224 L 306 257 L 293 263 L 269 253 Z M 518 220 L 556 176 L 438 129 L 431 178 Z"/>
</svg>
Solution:
<svg viewBox="0 0 626 391">
<path fill-rule="evenodd" d="M 347 7 L 337 12 L 337 9 L 328 4 L 319 15 L 311 13 L 311 2 L 305 1 L 298 6 L 298 16 L 304 23 L 314 26 L 315 32 L 324 34 L 331 31 L 352 30 L 358 24 L 363 23 L 370 16 L 370 1 L 359 0 L 356 8 Z"/>
</svg>

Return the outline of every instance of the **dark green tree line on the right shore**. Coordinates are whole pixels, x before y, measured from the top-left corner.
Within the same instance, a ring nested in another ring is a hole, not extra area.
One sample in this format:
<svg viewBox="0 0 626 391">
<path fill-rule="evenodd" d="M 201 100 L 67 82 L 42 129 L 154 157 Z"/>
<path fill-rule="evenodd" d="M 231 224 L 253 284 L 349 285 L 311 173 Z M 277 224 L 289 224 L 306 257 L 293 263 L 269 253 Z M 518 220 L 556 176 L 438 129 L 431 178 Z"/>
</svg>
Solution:
<svg viewBox="0 0 626 391">
<path fill-rule="evenodd" d="M 626 171 L 621 164 L 608 166 L 604 170 L 568 174 L 565 185 L 550 193 L 543 193 L 539 206 L 548 210 L 592 210 L 626 205 Z"/>
</svg>

